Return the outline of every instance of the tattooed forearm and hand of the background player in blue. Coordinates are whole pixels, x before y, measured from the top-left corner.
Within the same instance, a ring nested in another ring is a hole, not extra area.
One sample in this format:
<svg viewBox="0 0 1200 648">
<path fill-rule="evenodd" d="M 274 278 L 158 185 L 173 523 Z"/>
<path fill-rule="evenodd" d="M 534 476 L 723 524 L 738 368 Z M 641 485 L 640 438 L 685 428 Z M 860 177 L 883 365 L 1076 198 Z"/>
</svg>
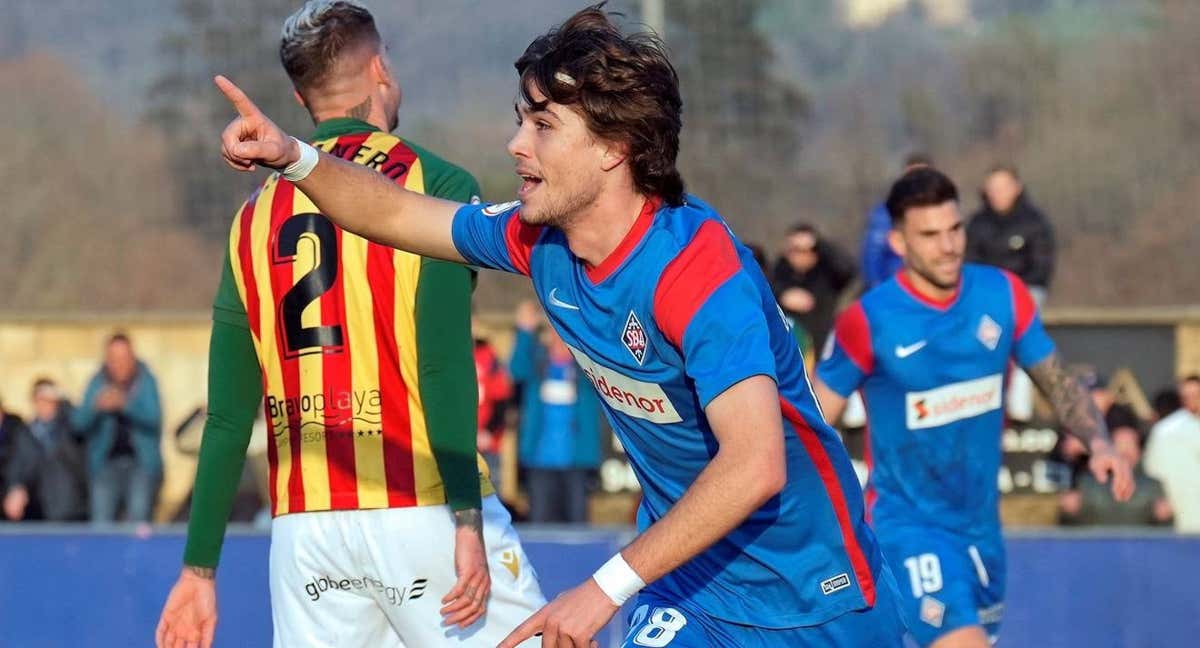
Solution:
<svg viewBox="0 0 1200 648">
<path fill-rule="evenodd" d="M 1112 473 L 1112 497 L 1118 502 L 1129 499 L 1134 488 L 1132 467 L 1112 450 L 1104 416 L 1084 385 L 1067 373 L 1057 353 L 1028 367 L 1028 373 L 1050 401 L 1067 432 L 1091 448 L 1090 468 L 1096 480 L 1106 484 L 1109 473 Z"/>
</svg>

